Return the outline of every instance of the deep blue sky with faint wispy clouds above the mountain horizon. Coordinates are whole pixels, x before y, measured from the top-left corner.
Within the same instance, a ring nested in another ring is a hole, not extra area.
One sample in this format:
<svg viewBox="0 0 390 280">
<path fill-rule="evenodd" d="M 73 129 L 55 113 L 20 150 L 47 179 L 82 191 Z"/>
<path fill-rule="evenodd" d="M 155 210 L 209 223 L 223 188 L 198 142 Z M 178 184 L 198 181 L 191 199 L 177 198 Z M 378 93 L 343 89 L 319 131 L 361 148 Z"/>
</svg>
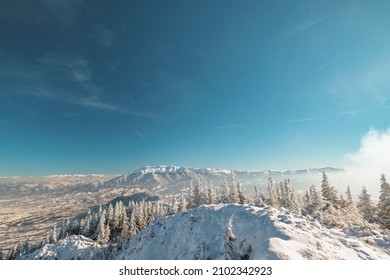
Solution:
<svg viewBox="0 0 390 280">
<path fill-rule="evenodd" d="M 0 6 L 0 176 L 387 168 L 389 1 Z"/>
</svg>

